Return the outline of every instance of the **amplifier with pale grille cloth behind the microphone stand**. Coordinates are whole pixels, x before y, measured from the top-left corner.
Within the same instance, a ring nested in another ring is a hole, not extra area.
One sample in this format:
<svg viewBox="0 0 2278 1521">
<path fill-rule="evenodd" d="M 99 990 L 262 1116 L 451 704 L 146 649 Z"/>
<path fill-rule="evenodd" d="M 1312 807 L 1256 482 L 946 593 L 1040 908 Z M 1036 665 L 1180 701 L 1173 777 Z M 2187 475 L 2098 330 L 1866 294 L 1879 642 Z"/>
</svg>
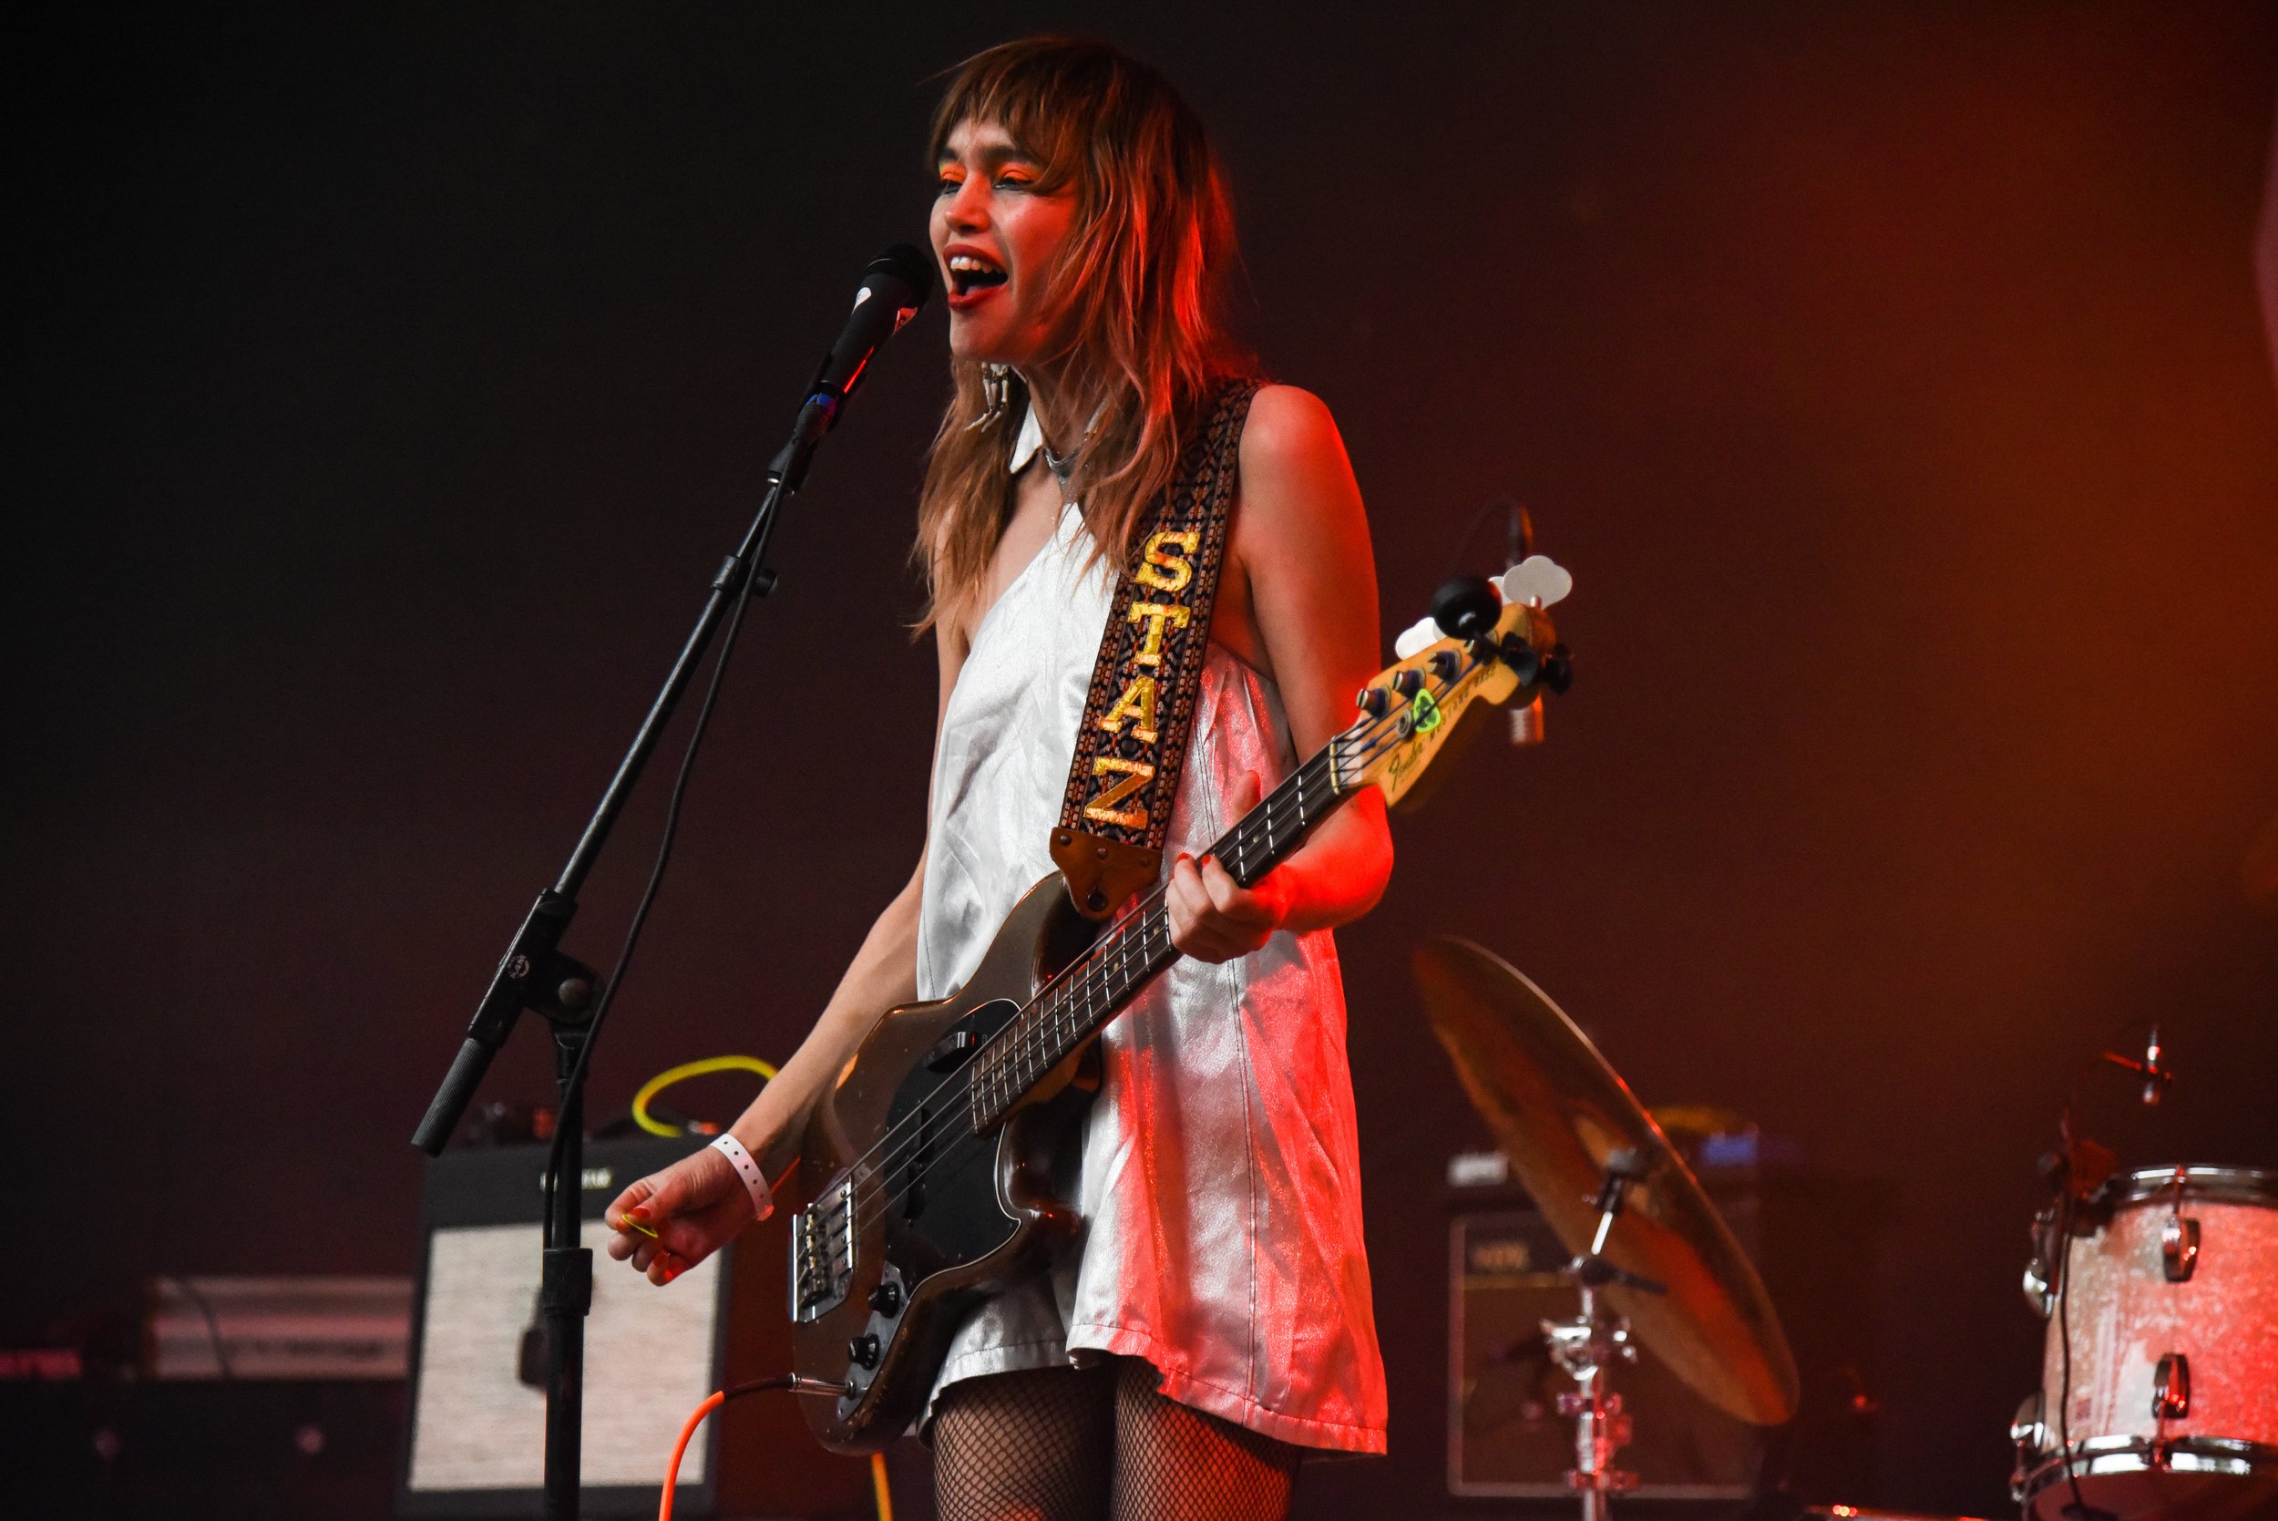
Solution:
<svg viewBox="0 0 2278 1521">
<path fill-rule="evenodd" d="M 713 1389 L 790 1371 L 781 1214 L 665 1289 L 604 1252 L 608 1200 L 697 1145 L 702 1138 L 688 1136 L 585 1148 L 583 1243 L 595 1250 L 585 1318 L 588 1516 L 654 1514 L 688 1414 Z M 544 1166 L 542 1145 L 460 1150 L 428 1164 L 399 1516 L 542 1514 Z M 868 1510 L 868 1464 L 825 1453 L 793 1398 L 754 1393 L 718 1409 L 681 1460 L 677 1514 Z"/>
</svg>

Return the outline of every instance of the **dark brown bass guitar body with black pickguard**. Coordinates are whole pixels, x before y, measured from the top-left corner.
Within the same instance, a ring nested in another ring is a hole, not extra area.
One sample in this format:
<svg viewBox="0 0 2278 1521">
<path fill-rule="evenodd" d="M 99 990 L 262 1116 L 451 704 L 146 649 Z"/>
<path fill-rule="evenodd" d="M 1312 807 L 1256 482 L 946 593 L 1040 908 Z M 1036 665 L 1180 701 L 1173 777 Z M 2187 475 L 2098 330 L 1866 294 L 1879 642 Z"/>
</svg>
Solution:
<svg viewBox="0 0 2278 1521">
<path fill-rule="evenodd" d="M 1096 1086 L 1082 1082 L 1082 1061 L 1064 1063 L 984 1134 L 973 1134 L 966 1086 L 952 1079 L 1096 931 L 1059 874 L 1046 877 L 964 988 L 888 1011 L 816 1104 L 800 1170 L 827 1182 L 793 1220 L 790 1312 L 797 1373 L 847 1391 L 802 1400 L 822 1446 L 875 1453 L 909 1430 L 973 1305 L 1036 1273 L 1052 1243 L 1077 1234 L 1066 1202 L 1082 1159 L 1075 1125 Z M 847 1236 L 834 1223 L 850 1200 Z"/>
</svg>

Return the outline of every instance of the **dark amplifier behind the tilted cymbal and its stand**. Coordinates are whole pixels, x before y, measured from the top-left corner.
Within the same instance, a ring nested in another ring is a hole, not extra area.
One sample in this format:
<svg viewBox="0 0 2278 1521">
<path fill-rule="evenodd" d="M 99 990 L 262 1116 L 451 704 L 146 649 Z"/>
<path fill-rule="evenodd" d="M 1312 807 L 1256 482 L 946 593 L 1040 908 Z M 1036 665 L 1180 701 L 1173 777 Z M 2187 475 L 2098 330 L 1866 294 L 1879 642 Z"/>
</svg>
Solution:
<svg viewBox="0 0 2278 1521">
<path fill-rule="evenodd" d="M 1800 1498 L 1861 1494 L 1875 1478 L 1868 1200 L 1854 1186 L 1795 1173 L 1704 1168 L 1702 1182 L 1763 1275 L 1795 1350 L 1802 1407 L 1779 1437 L 1747 1425 L 1693 1393 L 1633 1337 L 1638 1359 L 1608 1375 L 1636 1428 L 1615 1453 L 1615 1466 L 1638 1475 L 1624 1498 L 1724 1514 L 1781 1462 Z M 1449 1195 L 1458 1207 L 1449 1225 L 1449 1494 L 1556 1501 L 1556 1514 L 1567 1514 L 1574 1421 L 1558 1414 L 1558 1396 L 1574 1380 L 1542 1339 L 1542 1321 L 1579 1312 L 1574 1286 L 1558 1275 L 1567 1252 L 1517 1186 L 1451 1186 Z M 1834 1243 L 1845 1248 L 1841 1271 Z M 1775 1439 L 1784 1453 L 1772 1450 Z"/>
</svg>

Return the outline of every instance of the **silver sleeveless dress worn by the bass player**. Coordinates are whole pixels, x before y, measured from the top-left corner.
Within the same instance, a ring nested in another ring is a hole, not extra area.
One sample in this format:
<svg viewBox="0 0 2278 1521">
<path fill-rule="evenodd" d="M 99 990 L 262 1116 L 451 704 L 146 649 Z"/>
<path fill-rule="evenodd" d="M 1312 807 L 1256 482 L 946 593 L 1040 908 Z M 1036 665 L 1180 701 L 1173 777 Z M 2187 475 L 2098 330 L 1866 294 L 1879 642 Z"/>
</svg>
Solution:
<svg viewBox="0 0 2278 1521">
<path fill-rule="evenodd" d="M 1011 469 L 1041 435 L 1021 430 Z M 980 965 L 1014 902 L 1050 874 L 1075 724 L 1112 576 L 1059 528 L 973 633 L 934 758 L 918 997 Z M 1203 667 L 1171 852 L 1201 856 L 1244 774 L 1294 765 L 1280 694 L 1221 644 Z M 1330 934 L 1278 934 L 1223 965 L 1180 961 L 1103 1036 L 1084 1127 L 1082 1245 L 982 1305 L 941 1389 L 1096 1353 L 1144 1357 L 1162 1391 L 1280 1441 L 1385 1450 L 1360 1236 L 1360 1157 Z"/>
</svg>

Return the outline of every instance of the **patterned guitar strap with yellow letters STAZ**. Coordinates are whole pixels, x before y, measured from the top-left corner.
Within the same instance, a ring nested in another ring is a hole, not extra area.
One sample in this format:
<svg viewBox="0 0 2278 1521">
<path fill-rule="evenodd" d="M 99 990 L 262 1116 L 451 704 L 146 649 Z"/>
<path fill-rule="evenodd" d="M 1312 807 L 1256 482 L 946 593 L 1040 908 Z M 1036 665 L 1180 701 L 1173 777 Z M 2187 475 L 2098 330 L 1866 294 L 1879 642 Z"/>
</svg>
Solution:
<svg viewBox="0 0 2278 1521">
<path fill-rule="evenodd" d="M 1096 920 L 1162 872 L 1226 562 L 1242 424 L 1260 385 L 1230 380 L 1219 389 L 1107 606 L 1052 829 L 1068 897 Z"/>
</svg>

